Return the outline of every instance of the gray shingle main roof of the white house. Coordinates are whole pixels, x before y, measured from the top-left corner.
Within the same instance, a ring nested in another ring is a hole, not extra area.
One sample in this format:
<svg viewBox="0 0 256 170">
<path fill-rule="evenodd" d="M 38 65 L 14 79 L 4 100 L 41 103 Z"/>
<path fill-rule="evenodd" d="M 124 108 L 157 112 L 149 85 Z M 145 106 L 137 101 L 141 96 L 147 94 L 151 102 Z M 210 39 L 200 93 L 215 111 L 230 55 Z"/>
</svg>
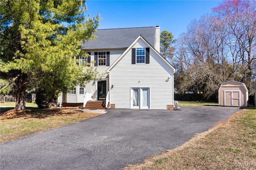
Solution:
<svg viewBox="0 0 256 170">
<path fill-rule="evenodd" d="M 139 35 L 154 47 L 156 27 L 117 28 L 97 30 L 95 40 L 82 43 L 83 49 L 129 47 Z"/>
</svg>

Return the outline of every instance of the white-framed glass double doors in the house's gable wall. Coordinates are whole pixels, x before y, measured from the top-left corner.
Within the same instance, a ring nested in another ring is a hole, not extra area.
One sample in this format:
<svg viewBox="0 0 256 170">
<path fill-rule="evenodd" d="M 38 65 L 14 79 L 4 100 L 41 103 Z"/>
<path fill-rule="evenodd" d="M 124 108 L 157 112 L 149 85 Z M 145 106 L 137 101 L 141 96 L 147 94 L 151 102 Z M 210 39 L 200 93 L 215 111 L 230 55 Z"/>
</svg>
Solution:
<svg viewBox="0 0 256 170">
<path fill-rule="evenodd" d="M 149 109 L 149 88 L 131 89 L 131 109 Z"/>
</svg>

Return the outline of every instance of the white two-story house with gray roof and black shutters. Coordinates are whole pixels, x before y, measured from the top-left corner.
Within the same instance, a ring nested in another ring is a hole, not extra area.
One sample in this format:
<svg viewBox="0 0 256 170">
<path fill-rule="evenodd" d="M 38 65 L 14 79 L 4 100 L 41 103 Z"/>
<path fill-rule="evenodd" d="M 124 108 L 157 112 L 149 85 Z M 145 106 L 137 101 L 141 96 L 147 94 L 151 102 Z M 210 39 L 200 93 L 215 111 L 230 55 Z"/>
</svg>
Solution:
<svg viewBox="0 0 256 170">
<path fill-rule="evenodd" d="M 160 27 L 104 29 L 95 35 L 82 44 L 90 56 L 80 60 L 97 67 L 103 77 L 61 94 L 64 107 L 93 109 L 98 102 L 101 109 L 174 108 L 176 70 L 160 54 Z"/>
</svg>

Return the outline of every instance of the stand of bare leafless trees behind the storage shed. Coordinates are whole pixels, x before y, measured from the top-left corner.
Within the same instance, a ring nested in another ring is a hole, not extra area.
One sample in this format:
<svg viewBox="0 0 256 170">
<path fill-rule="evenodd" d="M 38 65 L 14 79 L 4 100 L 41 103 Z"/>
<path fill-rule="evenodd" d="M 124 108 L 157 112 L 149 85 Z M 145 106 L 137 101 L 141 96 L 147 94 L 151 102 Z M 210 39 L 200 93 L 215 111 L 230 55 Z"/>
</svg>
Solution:
<svg viewBox="0 0 256 170">
<path fill-rule="evenodd" d="M 212 14 L 193 20 L 175 44 L 175 88 L 179 93 L 217 96 L 220 83 L 256 83 L 256 3 L 224 0 Z"/>
</svg>

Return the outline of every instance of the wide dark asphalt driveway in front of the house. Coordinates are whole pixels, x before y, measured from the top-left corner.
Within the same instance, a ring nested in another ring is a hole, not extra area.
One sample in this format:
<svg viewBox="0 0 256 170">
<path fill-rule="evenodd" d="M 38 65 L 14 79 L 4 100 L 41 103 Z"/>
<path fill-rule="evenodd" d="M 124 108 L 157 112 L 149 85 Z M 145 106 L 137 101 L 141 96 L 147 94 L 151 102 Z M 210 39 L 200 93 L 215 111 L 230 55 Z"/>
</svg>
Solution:
<svg viewBox="0 0 256 170">
<path fill-rule="evenodd" d="M 1 170 L 120 169 L 176 148 L 238 111 L 113 109 L 99 117 L 0 143 Z"/>
</svg>

